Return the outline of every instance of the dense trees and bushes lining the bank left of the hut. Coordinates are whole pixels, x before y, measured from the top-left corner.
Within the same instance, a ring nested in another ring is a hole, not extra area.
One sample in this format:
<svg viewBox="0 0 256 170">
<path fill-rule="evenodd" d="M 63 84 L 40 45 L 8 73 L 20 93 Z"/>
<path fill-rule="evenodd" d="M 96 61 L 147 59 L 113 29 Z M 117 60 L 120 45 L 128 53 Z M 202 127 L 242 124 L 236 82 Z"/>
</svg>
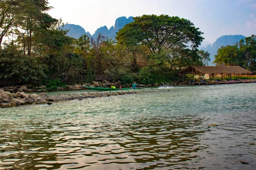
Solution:
<svg viewBox="0 0 256 170">
<path fill-rule="evenodd" d="M 47 0 L 0 0 L 0 8 L 0 86 L 170 82 L 180 69 L 209 62 L 198 50 L 203 33 L 183 18 L 143 15 L 122 28 L 116 42 L 101 34 L 76 40 L 47 14 Z"/>
</svg>

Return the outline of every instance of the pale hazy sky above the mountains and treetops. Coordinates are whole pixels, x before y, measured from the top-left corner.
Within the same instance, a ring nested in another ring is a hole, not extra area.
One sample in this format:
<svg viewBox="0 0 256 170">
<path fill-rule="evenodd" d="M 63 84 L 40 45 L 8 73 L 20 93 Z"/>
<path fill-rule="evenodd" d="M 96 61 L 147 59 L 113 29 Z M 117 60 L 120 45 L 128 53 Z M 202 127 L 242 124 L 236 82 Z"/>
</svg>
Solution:
<svg viewBox="0 0 256 170">
<path fill-rule="evenodd" d="M 167 14 L 194 23 L 213 43 L 223 35 L 256 34 L 256 0 L 48 0 L 48 14 L 93 34 L 118 17 Z"/>
</svg>

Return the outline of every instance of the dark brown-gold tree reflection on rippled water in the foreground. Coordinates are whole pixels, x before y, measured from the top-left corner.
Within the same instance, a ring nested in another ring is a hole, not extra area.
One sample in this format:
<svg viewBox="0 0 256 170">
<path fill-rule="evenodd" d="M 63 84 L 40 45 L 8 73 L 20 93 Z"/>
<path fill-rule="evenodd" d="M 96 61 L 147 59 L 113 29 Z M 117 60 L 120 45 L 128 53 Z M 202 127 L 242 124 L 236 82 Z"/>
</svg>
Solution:
<svg viewBox="0 0 256 170">
<path fill-rule="evenodd" d="M 87 125 L 1 127 L 1 166 L 9 169 L 154 169 L 195 162 L 205 148 L 201 119 L 133 119 Z M 195 166 L 197 167 L 197 166 Z"/>
</svg>

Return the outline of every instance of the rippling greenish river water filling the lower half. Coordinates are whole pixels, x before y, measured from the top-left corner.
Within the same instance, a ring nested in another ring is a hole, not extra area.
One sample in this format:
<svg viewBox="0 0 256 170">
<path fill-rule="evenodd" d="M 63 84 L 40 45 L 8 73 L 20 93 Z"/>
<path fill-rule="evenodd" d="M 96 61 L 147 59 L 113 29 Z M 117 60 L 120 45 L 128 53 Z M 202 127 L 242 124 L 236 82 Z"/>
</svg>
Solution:
<svg viewBox="0 0 256 170">
<path fill-rule="evenodd" d="M 255 144 L 256 83 L 0 108 L 6 170 L 254 170 Z"/>
</svg>

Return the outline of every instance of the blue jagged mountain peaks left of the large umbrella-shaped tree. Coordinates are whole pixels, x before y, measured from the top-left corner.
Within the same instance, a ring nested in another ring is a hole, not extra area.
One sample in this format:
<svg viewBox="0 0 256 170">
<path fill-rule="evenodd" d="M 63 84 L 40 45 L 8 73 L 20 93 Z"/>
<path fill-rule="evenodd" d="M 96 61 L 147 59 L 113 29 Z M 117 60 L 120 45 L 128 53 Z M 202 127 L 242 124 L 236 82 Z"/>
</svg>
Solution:
<svg viewBox="0 0 256 170">
<path fill-rule="evenodd" d="M 109 29 L 107 26 L 102 26 L 98 28 L 93 35 L 91 35 L 89 32 L 86 32 L 84 28 L 78 25 L 74 24 L 66 24 L 64 25 L 64 30 L 70 30 L 67 34 L 69 37 L 73 37 L 76 39 L 79 39 L 81 35 L 86 34 L 88 37 L 93 37 L 93 39 L 96 39 L 101 33 L 103 36 L 108 37 L 109 39 L 114 40 L 116 37 L 116 32 L 119 31 L 119 29 L 122 29 L 126 24 L 133 22 L 133 17 L 119 17 L 116 19 L 115 26 L 111 26 Z"/>
</svg>

